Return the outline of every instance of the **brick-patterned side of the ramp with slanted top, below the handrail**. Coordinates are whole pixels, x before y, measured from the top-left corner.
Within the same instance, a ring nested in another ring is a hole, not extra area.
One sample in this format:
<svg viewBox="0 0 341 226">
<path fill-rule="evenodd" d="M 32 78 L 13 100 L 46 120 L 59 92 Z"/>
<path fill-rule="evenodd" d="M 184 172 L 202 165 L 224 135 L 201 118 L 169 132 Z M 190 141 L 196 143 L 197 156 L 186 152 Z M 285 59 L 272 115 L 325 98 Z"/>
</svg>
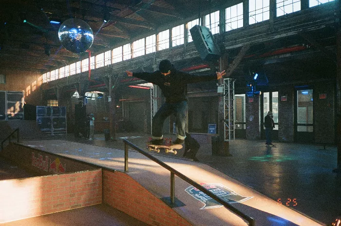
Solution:
<svg viewBox="0 0 341 226">
<path fill-rule="evenodd" d="M 169 206 L 129 175 L 103 169 L 103 202 L 153 226 L 189 226 Z"/>
</svg>

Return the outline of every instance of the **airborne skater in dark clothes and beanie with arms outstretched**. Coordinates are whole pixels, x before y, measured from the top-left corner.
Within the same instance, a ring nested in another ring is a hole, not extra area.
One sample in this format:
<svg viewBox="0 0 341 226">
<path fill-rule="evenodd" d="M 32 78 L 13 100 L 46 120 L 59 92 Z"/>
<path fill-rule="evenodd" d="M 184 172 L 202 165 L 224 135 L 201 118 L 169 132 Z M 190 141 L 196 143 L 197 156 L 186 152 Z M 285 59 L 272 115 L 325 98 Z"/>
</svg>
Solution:
<svg viewBox="0 0 341 226">
<path fill-rule="evenodd" d="M 162 145 L 162 129 L 165 119 L 175 114 L 176 136 L 173 144 L 183 144 L 185 140 L 185 122 L 187 104 L 187 84 L 220 79 L 226 73 L 216 72 L 212 75 L 192 75 L 176 70 L 168 59 L 160 61 L 159 70 L 153 73 L 133 73 L 126 71 L 128 76 L 134 76 L 160 87 L 166 98 L 166 103 L 161 106 L 152 119 L 152 141 L 151 144 Z"/>
</svg>

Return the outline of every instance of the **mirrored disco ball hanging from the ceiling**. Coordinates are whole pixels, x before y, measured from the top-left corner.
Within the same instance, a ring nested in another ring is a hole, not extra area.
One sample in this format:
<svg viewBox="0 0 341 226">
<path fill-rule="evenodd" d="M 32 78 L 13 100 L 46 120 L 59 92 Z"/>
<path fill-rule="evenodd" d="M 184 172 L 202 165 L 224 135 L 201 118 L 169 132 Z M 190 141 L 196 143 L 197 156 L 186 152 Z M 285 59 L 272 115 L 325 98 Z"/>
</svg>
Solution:
<svg viewBox="0 0 341 226">
<path fill-rule="evenodd" d="M 87 51 L 94 41 L 89 24 L 81 19 L 67 19 L 59 27 L 58 38 L 65 49 L 79 54 Z"/>
</svg>

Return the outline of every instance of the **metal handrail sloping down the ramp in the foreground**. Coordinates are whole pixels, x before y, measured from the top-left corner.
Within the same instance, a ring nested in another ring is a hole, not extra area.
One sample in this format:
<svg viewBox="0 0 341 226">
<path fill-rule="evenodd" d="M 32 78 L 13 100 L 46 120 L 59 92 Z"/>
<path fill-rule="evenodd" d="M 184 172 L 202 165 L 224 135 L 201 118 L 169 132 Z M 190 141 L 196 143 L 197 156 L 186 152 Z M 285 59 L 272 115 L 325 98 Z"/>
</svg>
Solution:
<svg viewBox="0 0 341 226">
<path fill-rule="evenodd" d="M 149 154 L 146 151 L 143 151 L 142 149 L 138 148 L 137 146 L 135 146 L 133 143 L 129 142 L 128 140 L 123 139 L 123 142 L 124 142 L 124 171 L 125 172 L 128 171 L 128 145 L 130 147 L 132 147 L 134 150 L 136 150 L 136 151 L 140 152 L 141 154 L 143 154 L 144 156 L 148 157 L 152 161 L 156 162 L 157 164 L 159 164 L 163 168 L 168 169 L 170 171 L 170 200 L 171 200 L 171 203 L 174 203 L 174 193 L 175 193 L 174 192 L 174 183 L 175 183 L 174 174 L 175 174 L 178 177 L 180 177 L 181 179 L 183 179 L 184 181 L 186 181 L 187 183 L 189 183 L 190 185 L 194 186 L 195 188 L 198 188 L 199 190 L 201 190 L 202 192 L 207 194 L 209 197 L 211 197 L 212 199 L 214 199 L 215 201 L 217 201 L 218 203 L 220 203 L 224 207 L 228 208 L 229 210 L 231 210 L 232 212 L 234 212 L 238 216 L 245 219 L 249 223 L 249 226 L 255 226 L 255 220 L 252 217 L 247 216 L 245 213 L 243 213 L 239 209 L 233 207 L 231 204 L 226 202 L 224 199 L 213 194 L 207 188 L 204 188 L 203 186 L 199 185 L 198 183 L 196 183 L 195 181 L 193 181 L 189 177 L 185 176 L 181 172 L 177 171 L 176 169 L 171 168 L 169 165 L 167 165 L 164 162 L 160 161 L 159 159 L 155 158 L 151 154 Z"/>
</svg>

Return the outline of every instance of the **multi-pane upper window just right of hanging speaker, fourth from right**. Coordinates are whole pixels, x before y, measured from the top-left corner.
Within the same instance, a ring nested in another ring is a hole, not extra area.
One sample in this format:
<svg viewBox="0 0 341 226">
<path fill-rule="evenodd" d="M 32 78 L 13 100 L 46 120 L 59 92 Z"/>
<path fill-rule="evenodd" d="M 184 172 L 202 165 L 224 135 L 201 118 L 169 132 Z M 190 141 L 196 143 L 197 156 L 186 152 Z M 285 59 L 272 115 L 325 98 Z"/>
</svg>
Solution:
<svg viewBox="0 0 341 226">
<path fill-rule="evenodd" d="M 225 31 L 243 27 L 243 2 L 225 9 Z"/>
</svg>

